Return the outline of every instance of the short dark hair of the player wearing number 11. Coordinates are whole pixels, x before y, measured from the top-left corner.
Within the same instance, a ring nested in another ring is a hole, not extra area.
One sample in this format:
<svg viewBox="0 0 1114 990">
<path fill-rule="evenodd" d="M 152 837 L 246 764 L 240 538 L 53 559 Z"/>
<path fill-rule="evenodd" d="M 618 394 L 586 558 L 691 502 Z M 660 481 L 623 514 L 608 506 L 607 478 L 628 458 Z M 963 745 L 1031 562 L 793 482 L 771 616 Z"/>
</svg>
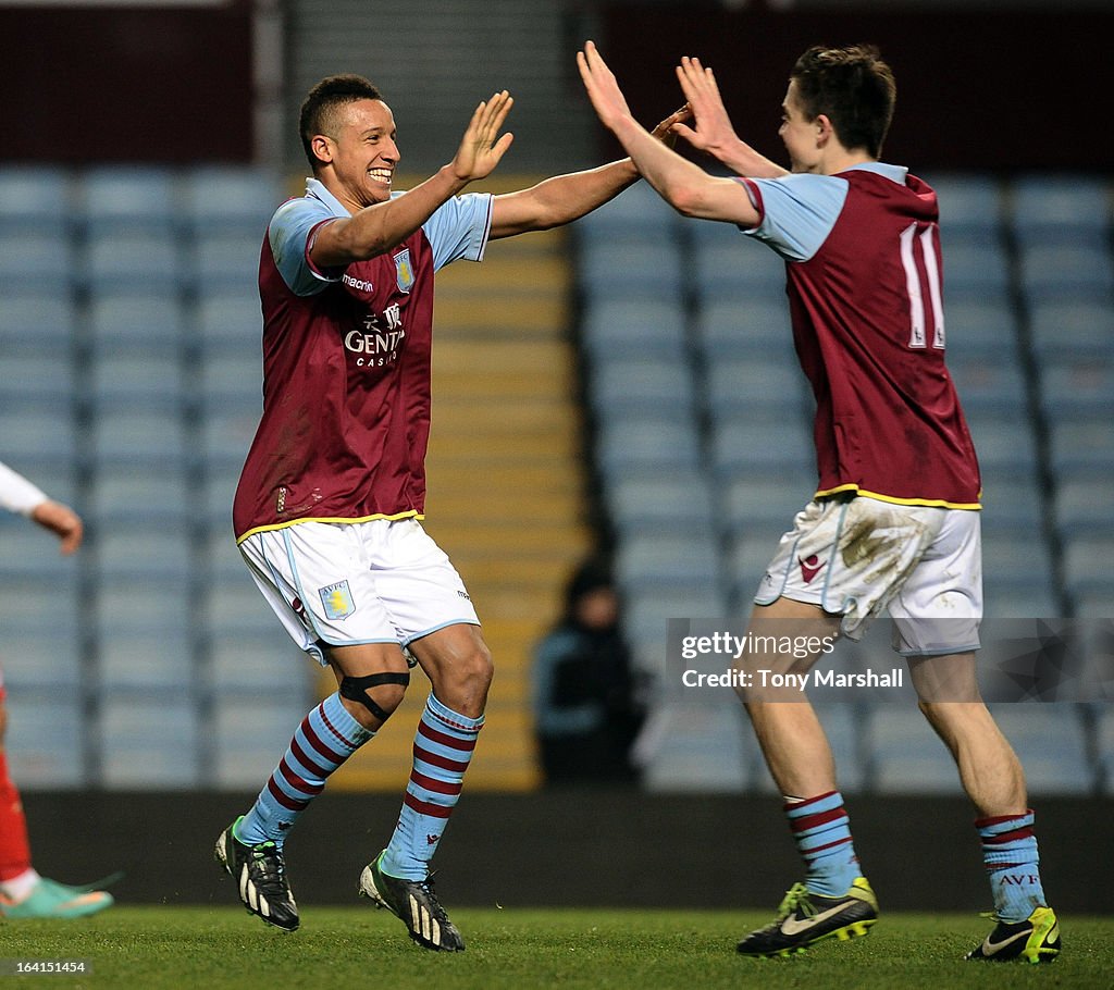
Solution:
<svg viewBox="0 0 1114 990">
<path fill-rule="evenodd" d="M 879 157 L 893 119 L 897 84 L 878 48 L 813 46 L 797 60 L 789 78 L 797 82 L 809 120 L 823 114 L 844 148 L 864 148 L 871 158 Z"/>
</svg>

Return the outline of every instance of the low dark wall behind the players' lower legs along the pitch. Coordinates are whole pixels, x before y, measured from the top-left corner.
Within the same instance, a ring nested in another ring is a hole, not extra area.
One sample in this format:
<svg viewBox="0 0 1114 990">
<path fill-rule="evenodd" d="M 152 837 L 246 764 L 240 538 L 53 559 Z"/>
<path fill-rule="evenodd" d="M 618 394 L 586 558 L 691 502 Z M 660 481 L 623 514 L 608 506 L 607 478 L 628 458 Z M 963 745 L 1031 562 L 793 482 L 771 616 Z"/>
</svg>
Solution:
<svg viewBox="0 0 1114 990">
<path fill-rule="evenodd" d="M 235 904 L 212 862 L 221 830 L 251 795 L 25 795 L 36 866 L 85 882 L 126 872 L 121 903 Z M 326 794 L 287 842 L 304 908 L 355 903 L 400 797 Z M 883 909 L 989 910 L 973 814 L 961 798 L 849 802 L 856 847 Z M 1045 889 L 1065 913 L 1108 914 L 1114 801 L 1037 805 Z M 438 890 L 458 906 L 773 908 L 800 879 L 775 797 L 551 790 L 465 794 L 437 857 Z"/>
</svg>

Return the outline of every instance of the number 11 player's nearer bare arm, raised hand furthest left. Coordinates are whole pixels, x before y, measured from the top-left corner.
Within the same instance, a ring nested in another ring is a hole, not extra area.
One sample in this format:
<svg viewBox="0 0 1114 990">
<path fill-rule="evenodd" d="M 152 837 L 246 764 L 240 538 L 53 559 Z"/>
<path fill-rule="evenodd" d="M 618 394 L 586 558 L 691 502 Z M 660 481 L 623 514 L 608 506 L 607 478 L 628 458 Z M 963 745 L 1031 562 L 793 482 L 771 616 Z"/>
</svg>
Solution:
<svg viewBox="0 0 1114 990">
<path fill-rule="evenodd" d="M 717 178 L 655 140 L 631 115 L 615 76 L 594 42 L 577 53 L 580 78 L 596 114 L 626 149 L 638 171 L 685 216 L 754 226 L 761 217 L 734 179 Z"/>
</svg>

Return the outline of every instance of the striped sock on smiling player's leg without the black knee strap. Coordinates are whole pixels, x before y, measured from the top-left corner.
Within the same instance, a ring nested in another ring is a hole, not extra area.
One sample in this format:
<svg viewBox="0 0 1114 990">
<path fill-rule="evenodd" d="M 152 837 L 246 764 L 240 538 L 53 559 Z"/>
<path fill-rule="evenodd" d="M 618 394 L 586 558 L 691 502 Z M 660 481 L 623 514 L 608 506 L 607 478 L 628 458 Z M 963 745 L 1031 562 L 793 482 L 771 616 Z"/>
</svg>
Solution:
<svg viewBox="0 0 1114 990">
<path fill-rule="evenodd" d="M 402 811 L 382 861 L 389 876 L 421 881 L 429 875 L 429 861 L 460 798 L 465 771 L 482 726 L 482 715 L 469 718 L 432 694 L 426 700 Z"/>
</svg>

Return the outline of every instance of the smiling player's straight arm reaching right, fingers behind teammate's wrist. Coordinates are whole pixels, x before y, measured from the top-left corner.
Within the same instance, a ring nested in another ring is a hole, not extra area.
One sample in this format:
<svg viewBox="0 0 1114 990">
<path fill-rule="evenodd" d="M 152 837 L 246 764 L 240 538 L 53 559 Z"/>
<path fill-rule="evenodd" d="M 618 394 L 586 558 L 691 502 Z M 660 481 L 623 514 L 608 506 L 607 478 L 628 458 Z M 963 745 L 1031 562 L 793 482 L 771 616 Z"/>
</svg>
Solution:
<svg viewBox="0 0 1114 990">
<path fill-rule="evenodd" d="M 673 141 L 673 127 L 687 117 L 682 108 L 653 130 L 659 141 Z M 510 237 L 528 231 L 547 231 L 579 219 L 614 199 L 639 178 L 629 158 L 587 171 L 558 175 L 545 182 L 495 196 L 491 200 L 491 237 Z"/>
</svg>

